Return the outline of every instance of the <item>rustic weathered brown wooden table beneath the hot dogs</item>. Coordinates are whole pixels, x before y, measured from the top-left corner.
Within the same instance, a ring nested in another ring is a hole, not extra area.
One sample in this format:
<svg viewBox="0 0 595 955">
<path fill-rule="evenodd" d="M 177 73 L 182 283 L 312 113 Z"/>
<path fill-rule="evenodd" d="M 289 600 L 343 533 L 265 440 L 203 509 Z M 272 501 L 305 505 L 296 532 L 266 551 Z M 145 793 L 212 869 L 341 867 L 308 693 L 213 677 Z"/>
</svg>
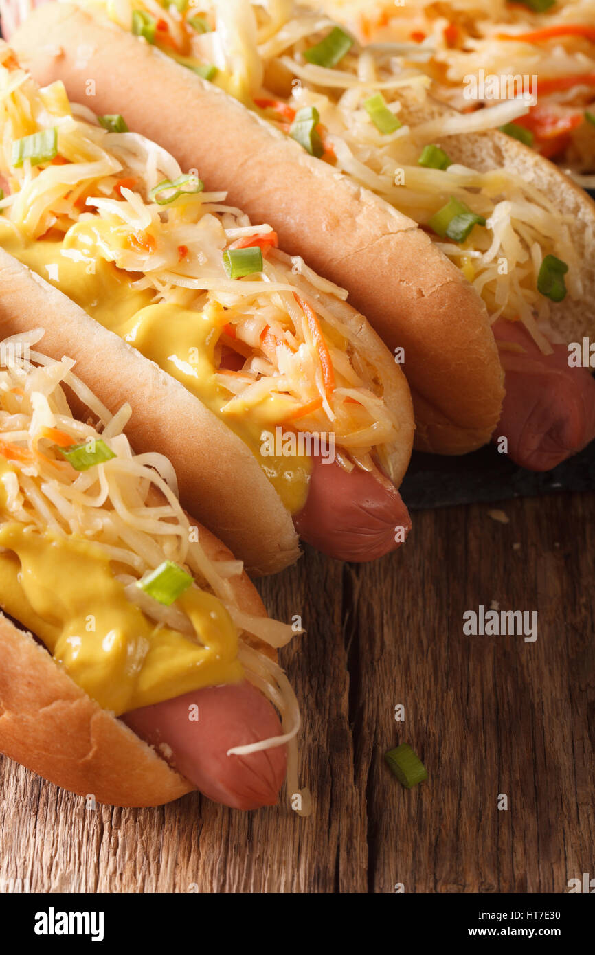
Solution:
<svg viewBox="0 0 595 955">
<path fill-rule="evenodd" d="M 0 879 L 44 892 L 563 892 L 595 875 L 595 498 L 498 506 L 508 524 L 483 504 L 418 513 L 383 562 L 308 551 L 263 582 L 269 609 L 308 628 L 284 662 L 312 817 L 197 795 L 93 812 L 5 759 Z M 465 636 L 463 612 L 492 601 L 538 610 L 537 641 Z M 403 741 L 430 775 L 412 791 L 383 761 Z"/>
</svg>

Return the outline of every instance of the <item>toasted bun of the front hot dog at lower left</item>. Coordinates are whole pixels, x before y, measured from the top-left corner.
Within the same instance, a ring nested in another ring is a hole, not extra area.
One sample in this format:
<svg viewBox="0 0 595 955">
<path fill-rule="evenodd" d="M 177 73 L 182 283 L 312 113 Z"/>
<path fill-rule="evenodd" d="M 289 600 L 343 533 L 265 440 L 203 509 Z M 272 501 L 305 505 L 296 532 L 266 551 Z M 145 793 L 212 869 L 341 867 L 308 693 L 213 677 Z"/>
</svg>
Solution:
<svg viewBox="0 0 595 955">
<path fill-rule="evenodd" d="M 212 560 L 232 559 L 203 527 L 200 541 Z M 230 583 L 246 612 L 266 616 L 245 574 Z M 266 647 L 253 638 L 250 642 Z M 274 659 L 271 647 L 266 652 Z M 113 713 L 102 710 L 31 633 L 2 613 L 0 661 L 1 753 L 78 796 L 93 795 L 114 806 L 159 806 L 195 788 Z"/>
</svg>

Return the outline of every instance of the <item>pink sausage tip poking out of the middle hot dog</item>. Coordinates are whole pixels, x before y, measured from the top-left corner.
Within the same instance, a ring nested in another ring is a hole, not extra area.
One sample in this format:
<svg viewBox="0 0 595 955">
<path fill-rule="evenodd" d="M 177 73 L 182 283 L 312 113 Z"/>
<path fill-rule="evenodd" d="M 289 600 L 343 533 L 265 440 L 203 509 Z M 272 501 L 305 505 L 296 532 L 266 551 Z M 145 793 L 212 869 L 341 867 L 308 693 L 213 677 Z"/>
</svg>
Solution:
<svg viewBox="0 0 595 955">
<path fill-rule="evenodd" d="M 335 460 L 312 457 L 308 499 L 294 516 L 295 529 L 323 554 L 339 561 L 373 561 L 395 550 L 412 527 L 398 491 L 361 468 L 346 471 Z M 395 540 L 396 538 L 396 540 Z"/>
</svg>

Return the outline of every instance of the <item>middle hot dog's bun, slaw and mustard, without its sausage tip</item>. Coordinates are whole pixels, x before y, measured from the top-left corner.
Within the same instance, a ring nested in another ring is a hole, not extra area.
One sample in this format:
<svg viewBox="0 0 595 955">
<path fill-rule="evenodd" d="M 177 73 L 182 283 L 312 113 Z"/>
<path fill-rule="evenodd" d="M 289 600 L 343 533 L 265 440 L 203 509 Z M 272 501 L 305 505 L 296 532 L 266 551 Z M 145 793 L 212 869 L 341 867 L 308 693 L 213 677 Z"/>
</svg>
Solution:
<svg viewBox="0 0 595 955">
<path fill-rule="evenodd" d="M 3 81 L 16 84 L 0 107 L 4 333 L 42 308 L 49 353 L 72 354 L 112 407 L 131 401 L 138 450 L 159 442 L 182 502 L 255 572 L 297 558 L 292 517 L 316 454 L 317 483 L 340 483 L 345 499 L 356 498 L 359 471 L 377 498 L 398 497 L 411 396 L 346 293 L 208 193 L 196 170 L 183 174 L 154 143 L 120 132 L 121 117 L 100 125 L 86 108 L 71 113 L 61 83 L 40 91 L 2 55 Z M 339 482 L 341 470 L 349 479 Z M 371 560 L 398 546 L 394 533 L 372 546 L 369 529 L 360 514 L 341 528 L 358 548 L 333 545 L 333 555 Z"/>
</svg>

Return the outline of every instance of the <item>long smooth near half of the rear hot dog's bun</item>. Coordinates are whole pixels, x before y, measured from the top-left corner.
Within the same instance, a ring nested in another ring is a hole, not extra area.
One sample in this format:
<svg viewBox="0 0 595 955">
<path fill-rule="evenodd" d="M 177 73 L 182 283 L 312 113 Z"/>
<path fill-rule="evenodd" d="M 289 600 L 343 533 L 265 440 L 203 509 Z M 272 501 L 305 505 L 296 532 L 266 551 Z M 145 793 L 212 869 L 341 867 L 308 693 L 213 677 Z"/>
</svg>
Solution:
<svg viewBox="0 0 595 955">
<path fill-rule="evenodd" d="M 405 350 L 419 447 L 460 454 L 489 439 L 503 375 L 487 312 L 411 219 L 106 20 L 45 4 L 11 45 L 39 83 L 60 78 L 73 100 L 124 114 L 253 222 L 274 225 L 288 252 L 349 288 L 389 349 Z"/>
</svg>

